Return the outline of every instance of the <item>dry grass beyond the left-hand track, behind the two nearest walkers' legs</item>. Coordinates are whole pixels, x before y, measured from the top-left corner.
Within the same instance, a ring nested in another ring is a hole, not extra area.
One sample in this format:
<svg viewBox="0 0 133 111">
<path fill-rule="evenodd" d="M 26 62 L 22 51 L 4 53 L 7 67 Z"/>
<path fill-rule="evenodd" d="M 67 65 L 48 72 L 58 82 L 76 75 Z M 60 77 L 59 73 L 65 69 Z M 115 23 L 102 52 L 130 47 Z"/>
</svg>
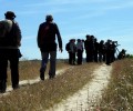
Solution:
<svg viewBox="0 0 133 111">
<path fill-rule="evenodd" d="M 35 79 L 37 77 L 39 77 L 40 65 L 41 65 L 41 61 L 39 61 L 39 60 L 20 61 L 20 63 L 19 63 L 20 81 L 21 80 L 31 80 L 31 79 Z M 57 69 L 62 69 L 64 67 L 68 67 L 68 64 L 64 61 L 59 61 L 59 63 L 57 64 Z M 48 74 L 48 70 L 49 70 L 49 63 L 48 63 L 45 74 Z M 8 69 L 8 85 L 9 84 L 11 84 L 10 69 Z"/>
</svg>

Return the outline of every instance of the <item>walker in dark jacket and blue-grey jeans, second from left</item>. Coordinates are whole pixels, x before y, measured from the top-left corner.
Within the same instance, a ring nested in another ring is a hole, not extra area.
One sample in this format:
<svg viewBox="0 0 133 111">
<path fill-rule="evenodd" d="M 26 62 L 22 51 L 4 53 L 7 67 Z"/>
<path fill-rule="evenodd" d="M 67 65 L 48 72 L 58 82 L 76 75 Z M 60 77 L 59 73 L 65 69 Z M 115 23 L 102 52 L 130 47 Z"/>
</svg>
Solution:
<svg viewBox="0 0 133 111">
<path fill-rule="evenodd" d="M 57 61 L 57 43 L 55 37 L 58 37 L 59 51 L 62 50 L 62 38 L 58 28 L 58 24 L 53 22 L 53 17 L 48 14 L 45 17 L 45 22 L 39 26 L 38 30 L 38 47 L 41 51 L 41 68 L 40 68 L 40 79 L 44 80 L 44 72 L 47 69 L 47 63 L 50 54 L 50 69 L 49 79 L 55 77 L 55 61 Z"/>
</svg>

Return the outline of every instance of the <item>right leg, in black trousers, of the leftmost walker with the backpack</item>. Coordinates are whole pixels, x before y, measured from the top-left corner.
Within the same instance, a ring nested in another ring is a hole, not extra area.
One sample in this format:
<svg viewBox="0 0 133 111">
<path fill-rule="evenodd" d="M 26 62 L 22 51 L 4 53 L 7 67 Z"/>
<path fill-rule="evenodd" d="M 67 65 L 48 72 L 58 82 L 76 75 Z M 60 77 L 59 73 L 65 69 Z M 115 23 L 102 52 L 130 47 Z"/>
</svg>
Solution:
<svg viewBox="0 0 133 111">
<path fill-rule="evenodd" d="M 12 88 L 18 89 L 19 88 L 19 57 L 18 57 L 18 50 L 12 50 L 10 53 L 10 69 L 11 69 L 11 81 L 12 81 Z"/>
</svg>

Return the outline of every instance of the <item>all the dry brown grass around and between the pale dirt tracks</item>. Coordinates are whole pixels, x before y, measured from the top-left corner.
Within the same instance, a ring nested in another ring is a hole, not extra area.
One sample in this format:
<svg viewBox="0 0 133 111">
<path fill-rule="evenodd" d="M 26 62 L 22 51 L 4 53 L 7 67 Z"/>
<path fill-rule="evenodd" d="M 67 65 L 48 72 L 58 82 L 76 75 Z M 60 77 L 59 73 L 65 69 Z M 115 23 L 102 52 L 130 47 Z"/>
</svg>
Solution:
<svg viewBox="0 0 133 111">
<path fill-rule="evenodd" d="M 101 64 L 74 65 L 53 80 L 25 85 L 0 97 L 0 111 L 44 111 L 86 84 L 99 65 Z M 66 67 L 70 65 L 61 61 L 57 69 Z M 112 67 L 109 87 L 103 91 L 96 111 L 133 111 L 133 59 L 117 60 Z M 39 68 L 40 61 L 20 62 L 20 80 L 39 77 Z"/>
</svg>

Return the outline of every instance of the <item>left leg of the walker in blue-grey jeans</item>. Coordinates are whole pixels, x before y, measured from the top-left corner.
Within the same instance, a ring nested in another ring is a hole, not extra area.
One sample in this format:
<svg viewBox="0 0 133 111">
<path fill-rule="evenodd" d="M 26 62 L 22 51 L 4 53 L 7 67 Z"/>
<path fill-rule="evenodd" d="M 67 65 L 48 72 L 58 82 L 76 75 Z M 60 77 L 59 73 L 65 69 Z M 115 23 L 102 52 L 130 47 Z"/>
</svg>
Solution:
<svg viewBox="0 0 133 111">
<path fill-rule="evenodd" d="M 44 72 L 47 69 L 49 52 L 41 52 L 41 56 L 42 56 L 42 61 L 41 61 L 41 68 L 40 68 L 40 79 L 44 80 Z"/>
</svg>

